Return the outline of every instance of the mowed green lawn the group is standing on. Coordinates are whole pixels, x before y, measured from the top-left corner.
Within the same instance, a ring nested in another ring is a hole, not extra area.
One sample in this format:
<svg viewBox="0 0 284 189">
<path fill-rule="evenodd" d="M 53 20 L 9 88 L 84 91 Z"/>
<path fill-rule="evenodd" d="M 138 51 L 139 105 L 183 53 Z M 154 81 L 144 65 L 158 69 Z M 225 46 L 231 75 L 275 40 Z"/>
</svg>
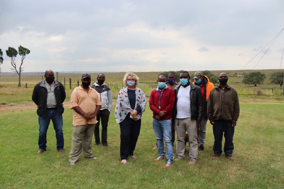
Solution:
<svg viewBox="0 0 284 189">
<path fill-rule="evenodd" d="M 114 107 L 113 107 L 114 108 Z M 284 105 L 241 103 L 235 128 L 234 162 L 224 153 L 212 160 L 214 137 L 208 122 L 205 150 L 189 165 L 186 158 L 163 169 L 166 160 L 154 162 L 158 151 L 147 105 L 134 155 L 137 160 L 120 162 L 120 129 L 111 112 L 109 146 L 94 146 L 97 160 L 81 156 L 70 166 L 72 111 L 65 107 L 63 132 L 65 154 L 56 150 L 52 123 L 47 133 L 47 150 L 37 154 L 38 116 L 36 109 L 1 111 L 1 188 L 284 188 Z M 94 137 L 93 137 L 94 144 Z M 223 140 L 224 145 L 224 140 Z M 175 153 L 176 156 L 176 153 Z"/>
</svg>

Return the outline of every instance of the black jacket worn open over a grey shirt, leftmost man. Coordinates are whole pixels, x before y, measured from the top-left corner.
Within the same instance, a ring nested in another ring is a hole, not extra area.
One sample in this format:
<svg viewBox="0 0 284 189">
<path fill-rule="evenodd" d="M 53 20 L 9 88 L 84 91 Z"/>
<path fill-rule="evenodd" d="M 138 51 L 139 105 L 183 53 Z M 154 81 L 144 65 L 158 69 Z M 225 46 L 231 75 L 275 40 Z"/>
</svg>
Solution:
<svg viewBox="0 0 284 189">
<path fill-rule="evenodd" d="M 46 108 L 47 108 L 47 89 L 45 87 L 44 81 L 39 82 L 34 87 L 34 91 L 32 94 L 32 100 L 37 105 L 37 115 L 41 117 L 46 116 Z M 61 115 L 64 112 L 64 108 L 62 103 L 66 98 L 65 89 L 62 83 L 59 81 L 54 80 L 54 94 L 57 103 L 57 111 L 58 114 Z"/>
</svg>

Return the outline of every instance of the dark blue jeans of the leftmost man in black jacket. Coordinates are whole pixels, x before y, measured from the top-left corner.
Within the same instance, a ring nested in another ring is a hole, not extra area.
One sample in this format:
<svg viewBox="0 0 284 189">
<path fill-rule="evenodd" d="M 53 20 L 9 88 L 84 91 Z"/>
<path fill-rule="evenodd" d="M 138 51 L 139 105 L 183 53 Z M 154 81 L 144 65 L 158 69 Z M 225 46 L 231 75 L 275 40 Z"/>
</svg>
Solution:
<svg viewBox="0 0 284 189">
<path fill-rule="evenodd" d="M 38 146 L 39 150 L 45 150 L 46 148 L 46 133 L 47 129 L 50 123 L 50 120 L 52 120 L 53 128 L 55 130 L 56 134 L 56 146 L 57 150 L 63 150 L 64 147 L 64 138 L 63 138 L 63 119 L 62 115 L 58 114 L 57 109 L 55 110 L 46 110 L 46 116 L 43 118 L 41 116 L 38 116 L 38 123 L 39 123 L 39 136 L 38 136 Z"/>
</svg>

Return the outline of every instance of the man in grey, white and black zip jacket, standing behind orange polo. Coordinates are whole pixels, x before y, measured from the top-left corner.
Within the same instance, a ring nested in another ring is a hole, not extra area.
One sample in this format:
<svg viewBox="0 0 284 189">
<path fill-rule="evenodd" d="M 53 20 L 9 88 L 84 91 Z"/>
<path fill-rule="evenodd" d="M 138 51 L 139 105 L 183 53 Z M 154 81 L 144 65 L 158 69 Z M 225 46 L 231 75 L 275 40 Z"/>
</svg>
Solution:
<svg viewBox="0 0 284 189">
<path fill-rule="evenodd" d="M 97 123 L 95 126 L 95 145 L 100 144 L 100 133 L 99 133 L 99 125 L 100 125 L 100 119 L 102 123 L 102 136 L 101 141 L 103 146 L 108 146 L 107 144 L 107 126 L 108 126 L 108 118 L 110 115 L 110 111 L 112 108 L 112 95 L 110 88 L 104 83 L 105 81 L 105 75 L 99 74 L 97 77 L 98 82 L 95 82 L 91 88 L 95 89 L 99 93 L 99 97 L 102 102 L 102 107 L 97 114 Z"/>
</svg>

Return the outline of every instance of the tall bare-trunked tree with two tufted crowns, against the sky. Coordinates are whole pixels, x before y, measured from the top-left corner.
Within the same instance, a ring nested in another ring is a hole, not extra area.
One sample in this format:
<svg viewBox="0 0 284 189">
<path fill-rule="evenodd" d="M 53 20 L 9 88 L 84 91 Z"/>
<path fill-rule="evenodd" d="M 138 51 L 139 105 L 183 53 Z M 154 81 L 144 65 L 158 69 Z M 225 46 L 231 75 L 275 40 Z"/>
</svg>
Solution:
<svg viewBox="0 0 284 189">
<path fill-rule="evenodd" d="M 20 45 L 18 47 L 18 51 L 19 51 L 19 55 L 22 56 L 22 61 L 21 61 L 19 69 L 17 69 L 16 61 L 15 61 L 15 58 L 18 54 L 17 50 L 13 47 L 9 47 L 8 50 L 6 50 L 6 54 L 7 56 L 11 58 L 11 65 L 12 65 L 11 70 L 13 72 L 16 72 L 19 75 L 18 87 L 20 87 L 21 86 L 21 72 L 24 71 L 22 65 L 24 63 L 24 59 L 26 58 L 26 56 L 30 54 L 30 50 Z"/>
</svg>

